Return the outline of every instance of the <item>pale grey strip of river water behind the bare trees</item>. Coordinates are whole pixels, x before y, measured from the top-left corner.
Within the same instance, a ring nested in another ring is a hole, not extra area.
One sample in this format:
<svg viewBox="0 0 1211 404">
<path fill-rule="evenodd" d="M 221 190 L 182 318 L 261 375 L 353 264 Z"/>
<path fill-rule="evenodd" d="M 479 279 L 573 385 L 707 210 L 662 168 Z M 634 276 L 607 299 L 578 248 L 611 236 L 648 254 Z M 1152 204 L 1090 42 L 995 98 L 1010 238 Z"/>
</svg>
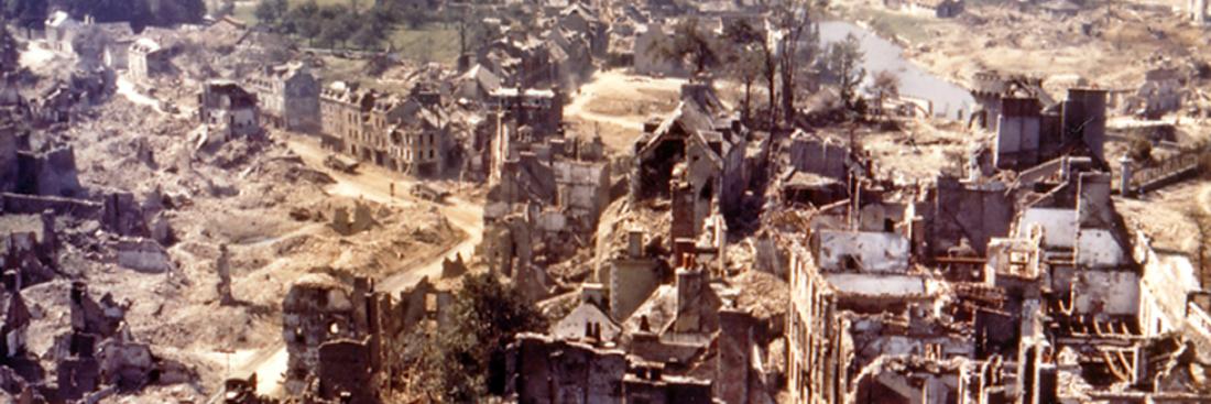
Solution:
<svg viewBox="0 0 1211 404">
<path fill-rule="evenodd" d="M 857 36 L 862 52 L 866 54 L 863 64 L 866 81 L 863 86 L 871 83 L 874 74 L 888 70 L 900 79 L 901 96 L 931 102 L 936 116 L 948 119 L 966 117 L 972 106 L 975 106 L 975 98 L 971 97 L 971 93 L 966 88 L 922 70 L 912 62 L 906 60 L 903 58 L 903 50 L 899 45 L 850 22 L 830 21 L 820 23 L 820 41 L 822 46 L 843 40 L 849 34 Z"/>
</svg>

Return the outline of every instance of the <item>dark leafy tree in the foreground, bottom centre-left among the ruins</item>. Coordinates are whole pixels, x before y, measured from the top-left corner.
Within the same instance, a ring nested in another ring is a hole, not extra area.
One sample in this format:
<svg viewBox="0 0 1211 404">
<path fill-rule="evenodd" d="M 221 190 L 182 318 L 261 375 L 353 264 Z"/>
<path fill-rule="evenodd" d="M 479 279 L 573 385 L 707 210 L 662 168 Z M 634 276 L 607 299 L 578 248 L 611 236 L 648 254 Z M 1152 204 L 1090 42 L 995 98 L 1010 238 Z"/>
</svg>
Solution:
<svg viewBox="0 0 1211 404">
<path fill-rule="evenodd" d="M 471 403 L 484 397 L 489 369 L 504 358 L 513 336 L 547 328 L 546 319 L 493 273 L 463 278 L 450 323 L 427 341 L 408 344 L 418 350 L 404 353 L 404 362 L 424 374 L 426 382 L 421 388 L 430 398 L 440 397 L 448 403 Z"/>
</svg>

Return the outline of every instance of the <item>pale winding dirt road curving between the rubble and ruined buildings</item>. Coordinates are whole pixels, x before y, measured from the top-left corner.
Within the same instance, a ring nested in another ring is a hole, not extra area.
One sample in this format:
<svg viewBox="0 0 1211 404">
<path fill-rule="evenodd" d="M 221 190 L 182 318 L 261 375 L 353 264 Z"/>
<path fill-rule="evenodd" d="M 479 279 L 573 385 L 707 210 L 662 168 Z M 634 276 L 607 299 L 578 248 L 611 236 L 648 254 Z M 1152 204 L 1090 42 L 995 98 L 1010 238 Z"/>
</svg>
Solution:
<svg viewBox="0 0 1211 404">
<path fill-rule="evenodd" d="M 303 157 L 303 161 L 311 168 L 328 172 L 337 181 L 328 192 L 348 197 L 361 197 L 391 206 L 411 206 L 415 203 L 429 203 L 415 201 L 406 196 L 407 189 L 413 180 L 402 174 L 392 173 L 372 166 L 358 168 L 357 174 L 331 172 L 323 167 L 323 158 L 327 151 L 321 149 L 312 139 L 291 138 L 287 140 L 291 150 Z M 391 196 L 391 184 L 395 184 L 396 195 Z M 442 260 L 460 254 L 464 260 L 475 252 L 475 246 L 480 243 L 483 235 L 483 207 L 459 198 L 449 198 L 447 204 L 434 204 L 449 220 L 450 225 L 461 230 L 465 238 L 434 256 L 421 265 L 400 269 L 395 275 L 381 279 L 378 289 L 389 293 L 398 293 L 414 285 L 423 277 L 437 277 L 442 272 Z M 252 373 L 257 374 L 257 391 L 262 394 L 281 396 L 282 375 L 286 373 L 288 354 L 282 342 L 271 347 L 265 347 L 252 353 L 241 353 L 242 363 L 233 364 L 231 374 L 245 377 Z"/>
</svg>

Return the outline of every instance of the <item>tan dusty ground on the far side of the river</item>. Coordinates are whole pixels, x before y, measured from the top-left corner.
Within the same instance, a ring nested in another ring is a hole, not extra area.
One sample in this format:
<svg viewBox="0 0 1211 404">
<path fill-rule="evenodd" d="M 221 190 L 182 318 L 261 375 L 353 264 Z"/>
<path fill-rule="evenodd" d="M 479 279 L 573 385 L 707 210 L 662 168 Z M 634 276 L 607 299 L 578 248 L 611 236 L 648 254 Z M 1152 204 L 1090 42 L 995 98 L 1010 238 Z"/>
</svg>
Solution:
<svg viewBox="0 0 1211 404">
<path fill-rule="evenodd" d="M 1062 17 L 1034 5 L 968 1 L 963 15 L 946 19 L 889 11 L 877 0 L 832 6 L 839 16 L 907 41 L 909 58 L 959 82 L 997 69 L 1041 77 L 1078 75 L 1102 88 L 1133 88 L 1155 58 L 1180 60 L 1207 46 L 1204 29 L 1170 7 L 1138 2 L 1095 2 Z"/>
</svg>

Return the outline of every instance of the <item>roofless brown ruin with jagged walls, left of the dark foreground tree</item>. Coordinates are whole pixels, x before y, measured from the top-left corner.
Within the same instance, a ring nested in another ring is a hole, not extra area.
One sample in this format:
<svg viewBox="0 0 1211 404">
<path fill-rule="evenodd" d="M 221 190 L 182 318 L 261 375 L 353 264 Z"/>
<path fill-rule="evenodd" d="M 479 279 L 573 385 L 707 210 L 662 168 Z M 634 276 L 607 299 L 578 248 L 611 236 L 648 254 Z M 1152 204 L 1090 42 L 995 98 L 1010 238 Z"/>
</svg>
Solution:
<svg viewBox="0 0 1211 404">
<path fill-rule="evenodd" d="M 368 278 L 352 285 L 321 273 L 298 279 L 282 301 L 286 392 L 308 403 L 380 403 L 398 368 L 385 362 L 390 348 L 415 329 L 448 325 L 452 301 L 427 279 L 398 299 L 375 292 Z"/>
</svg>

